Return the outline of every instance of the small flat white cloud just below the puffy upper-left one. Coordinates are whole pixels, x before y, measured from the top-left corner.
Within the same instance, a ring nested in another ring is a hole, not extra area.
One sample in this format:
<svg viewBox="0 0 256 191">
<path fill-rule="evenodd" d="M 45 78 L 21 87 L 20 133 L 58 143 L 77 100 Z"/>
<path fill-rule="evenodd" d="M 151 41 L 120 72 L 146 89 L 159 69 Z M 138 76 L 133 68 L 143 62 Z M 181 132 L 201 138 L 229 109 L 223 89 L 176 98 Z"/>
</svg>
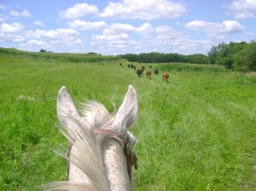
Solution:
<svg viewBox="0 0 256 191">
<path fill-rule="evenodd" d="M 69 22 L 68 26 L 81 30 L 99 30 L 108 26 L 105 21 L 96 21 L 96 22 L 88 22 L 84 20 L 73 20 L 73 22 Z"/>
</svg>

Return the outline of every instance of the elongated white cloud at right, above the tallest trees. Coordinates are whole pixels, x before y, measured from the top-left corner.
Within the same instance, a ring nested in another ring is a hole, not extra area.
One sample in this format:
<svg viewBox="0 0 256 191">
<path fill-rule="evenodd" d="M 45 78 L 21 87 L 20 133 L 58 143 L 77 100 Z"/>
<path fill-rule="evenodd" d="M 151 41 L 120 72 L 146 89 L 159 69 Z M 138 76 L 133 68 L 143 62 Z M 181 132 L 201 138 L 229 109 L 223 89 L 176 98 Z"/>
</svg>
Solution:
<svg viewBox="0 0 256 191">
<path fill-rule="evenodd" d="M 187 24 L 185 27 L 192 31 L 206 32 L 210 36 L 216 36 L 224 33 L 241 32 L 245 29 L 236 20 L 224 20 L 223 22 L 207 22 L 204 20 L 194 20 Z"/>
</svg>

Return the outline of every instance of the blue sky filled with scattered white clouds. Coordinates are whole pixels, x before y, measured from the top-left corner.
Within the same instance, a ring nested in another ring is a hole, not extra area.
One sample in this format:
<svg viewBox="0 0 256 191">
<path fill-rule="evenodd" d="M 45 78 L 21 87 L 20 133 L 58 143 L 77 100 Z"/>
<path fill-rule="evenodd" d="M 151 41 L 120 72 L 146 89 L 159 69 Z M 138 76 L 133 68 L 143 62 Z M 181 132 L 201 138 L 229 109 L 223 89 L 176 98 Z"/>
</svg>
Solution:
<svg viewBox="0 0 256 191">
<path fill-rule="evenodd" d="M 256 39 L 256 0 L 0 0 L 0 47 L 207 54 Z"/>
</svg>

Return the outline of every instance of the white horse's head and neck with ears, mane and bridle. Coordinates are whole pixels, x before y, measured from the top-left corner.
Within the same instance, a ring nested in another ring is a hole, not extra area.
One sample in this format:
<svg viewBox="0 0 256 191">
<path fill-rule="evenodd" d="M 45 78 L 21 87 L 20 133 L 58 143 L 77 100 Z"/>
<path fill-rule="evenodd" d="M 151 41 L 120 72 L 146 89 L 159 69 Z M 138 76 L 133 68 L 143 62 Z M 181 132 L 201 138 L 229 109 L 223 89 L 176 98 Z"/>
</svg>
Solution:
<svg viewBox="0 0 256 191">
<path fill-rule="evenodd" d="M 136 138 L 128 131 L 137 118 L 137 94 L 129 86 L 116 113 L 101 103 L 88 101 L 81 115 L 65 87 L 57 98 L 57 115 L 62 133 L 69 141 L 65 157 L 67 182 L 49 184 L 50 190 L 133 190 L 131 165 L 137 168 L 132 152 Z"/>
</svg>

